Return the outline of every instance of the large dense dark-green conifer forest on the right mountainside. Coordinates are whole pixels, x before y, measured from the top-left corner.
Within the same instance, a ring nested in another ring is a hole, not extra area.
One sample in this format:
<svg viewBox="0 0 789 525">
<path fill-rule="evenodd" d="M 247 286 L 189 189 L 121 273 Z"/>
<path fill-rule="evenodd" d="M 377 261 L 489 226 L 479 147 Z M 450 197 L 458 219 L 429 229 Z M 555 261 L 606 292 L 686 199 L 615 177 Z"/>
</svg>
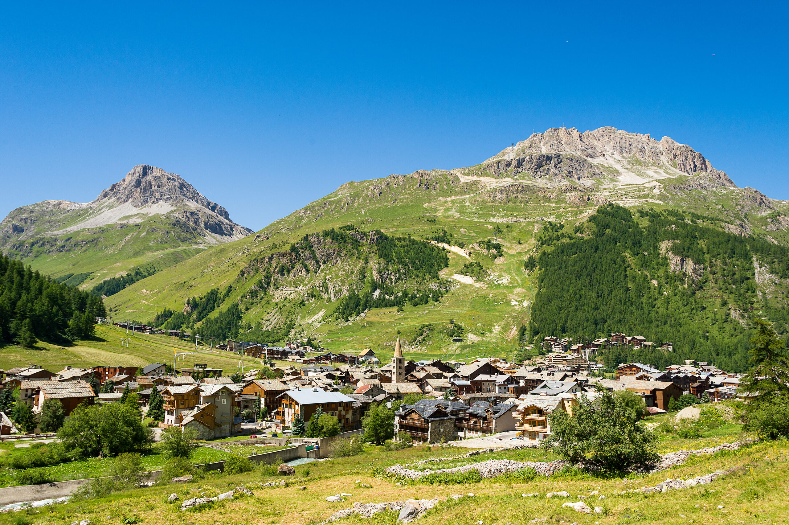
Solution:
<svg viewBox="0 0 789 525">
<path fill-rule="evenodd" d="M 743 371 L 751 334 L 740 321 L 752 307 L 781 321 L 779 332 L 787 332 L 787 309 L 756 299 L 753 271 L 755 254 L 782 275 L 786 248 L 702 226 L 675 211 L 639 210 L 638 219 L 616 204 L 600 207 L 583 237 L 540 252 L 527 339 L 586 342 L 623 332 L 657 345 L 671 342 L 674 352 L 619 348 L 606 357 L 611 365 L 641 360 L 666 366 L 694 358 Z M 704 264 L 701 278 L 671 272 L 661 249 Z M 535 263 L 527 261 L 527 268 L 529 262 Z"/>
</svg>

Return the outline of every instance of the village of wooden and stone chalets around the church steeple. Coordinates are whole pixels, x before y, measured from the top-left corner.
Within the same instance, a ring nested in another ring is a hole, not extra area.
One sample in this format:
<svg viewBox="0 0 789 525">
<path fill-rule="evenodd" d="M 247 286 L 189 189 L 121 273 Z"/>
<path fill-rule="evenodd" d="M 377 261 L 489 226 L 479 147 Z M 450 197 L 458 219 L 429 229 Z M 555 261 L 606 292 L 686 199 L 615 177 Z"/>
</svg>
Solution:
<svg viewBox="0 0 789 525">
<path fill-rule="evenodd" d="M 148 328 L 117 325 L 140 332 Z M 620 333 L 576 345 L 548 336 L 543 341 L 547 353 L 522 363 L 495 357 L 413 362 L 403 357 L 398 338 L 394 357 L 382 366 L 372 349 L 350 354 L 316 351 L 303 343 L 220 343 L 215 347 L 219 351 L 261 362 L 260 369 L 231 377 L 199 362 L 178 369 L 159 362 L 59 371 L 32 365 L 5 370 L 2 388 L 18 391 L 18 402 L 27 403 L 33 414 L 42 411 L 47 399 L 58 399 L 65 418 L 80 403 L 119 403 L 129 392 L 136 394 L 145 418 L 151 400 L 161 397 L 163 417 L 151 425 L 192 429 L 209 441 L 245 434 L 300 437 L 304 422 L 316 413 L 331 414 L 340 433 L 353 433 L 362 428 L 372 406 L 391 408 L 394 402 L 394 439 L 428 444 L 499 433 L 539 442 L 551 433 L 554 411 L 572 414 L 582 398 L 594 400 L 603 391 L 632 392 L 645 414 L 741 396 L 739 375 L 707 362 L 686 361 L 664 370 L 629 362 L 613 374 L 601 373 L 602 366 L 592 361 L 598 352 L 652 344 Z M 2 414 L 2 436 L 23 433 L 9 416 Z"/>
</svg>

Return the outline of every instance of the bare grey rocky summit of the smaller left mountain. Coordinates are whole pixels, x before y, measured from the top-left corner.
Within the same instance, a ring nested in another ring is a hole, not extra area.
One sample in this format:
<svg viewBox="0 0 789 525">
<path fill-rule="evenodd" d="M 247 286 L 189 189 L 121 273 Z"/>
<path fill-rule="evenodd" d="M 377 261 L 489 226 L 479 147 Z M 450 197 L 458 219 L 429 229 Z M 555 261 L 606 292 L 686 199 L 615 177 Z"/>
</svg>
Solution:
<svg viewBox="0 0 789 525">
<path fill-rule="evenodd" d="M 160 202 L 173 205 L 197 204 L 223 219 L 230 220 L 230 214 L 225 208 L 209 201 L 180 175 L 167 173 L 160 167 L 147 164 L 133 167 L 120 182 L 115 182 L 99 193 L 99 197 L 91 204 L 100 204 L 109 199 L 115 199 L 118 204 L 129 202 L 134 208 Z"/>
</svg>

